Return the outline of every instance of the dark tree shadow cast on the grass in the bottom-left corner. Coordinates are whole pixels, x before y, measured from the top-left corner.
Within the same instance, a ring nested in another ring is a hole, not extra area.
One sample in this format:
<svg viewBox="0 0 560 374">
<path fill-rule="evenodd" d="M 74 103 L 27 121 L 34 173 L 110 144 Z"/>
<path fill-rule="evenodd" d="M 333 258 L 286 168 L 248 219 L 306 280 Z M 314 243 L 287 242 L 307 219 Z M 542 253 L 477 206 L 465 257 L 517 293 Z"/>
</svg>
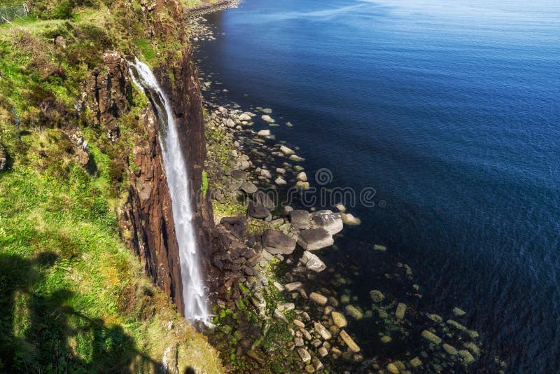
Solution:
<svg viewBox="0 0 560 374">
<path fill-rule="evenodd" d="M 72 291 L 47 290 L 57 258 L 0 253 L 0 372 L 166 373 L 121 326 L 69 306 Z"/>
</svg>

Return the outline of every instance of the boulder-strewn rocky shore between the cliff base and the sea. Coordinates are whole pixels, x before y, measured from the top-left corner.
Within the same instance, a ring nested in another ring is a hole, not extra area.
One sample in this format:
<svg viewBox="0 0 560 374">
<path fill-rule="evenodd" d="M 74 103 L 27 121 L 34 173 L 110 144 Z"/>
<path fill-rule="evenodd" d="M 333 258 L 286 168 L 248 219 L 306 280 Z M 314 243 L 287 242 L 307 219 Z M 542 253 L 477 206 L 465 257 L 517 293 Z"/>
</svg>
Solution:
<svg viewBox="0 0 560 374">
<path fill-rule="evenodd" d="M 195 22 L 196 41 L 214 33 L 203 19 Z M 330 210 L 281 205 L 286 191 L 311 186 L 297 147 L 274 139 L 280 125 L 272 109 L 243 111 L 221 102 L 221 83 L 200 73 L 205 108 L 209 198 L 214 209 L 217 251 L 211 299 L 215 328 L 209 340 L 222 352 L 232 372 L 328 372 L 349 368 L 367 373 L 412 373 L 468 370 L 481 354 L 479 334 L 455 319 L 421 312 L 419 286 L 412 269 L 398 263 L 386 279 L 402 279 L 407 289 L 391 296 L 372 289 L 365 309 L 351 293 L 351 279 L 327 268 L 321 251 L 336 249 L 344 225 L 359 224 L 343 205 Z M 253 113 L 256 112 L 256 113 Z M 253 130 L 253 125 L 269 125 Z M 286 123 L 288 127 L 290 123 Z M 376 254 L 386 253 L 371 244 Z M 413 300 L 404 303 L 398 298 Z M 360 300 L 364 303 L 364 300 Z M 466 314 L 453 310 L 461 321 Z M 418 354 L 365 357 L 362 342 L 352 333 L 372 321 L 378 344 L 386 347 L 411 341 Z M 353 327 L 355 325 L 355 327 Z M 412 340 L 411 340 L 412 339 Z"/>
</svg>

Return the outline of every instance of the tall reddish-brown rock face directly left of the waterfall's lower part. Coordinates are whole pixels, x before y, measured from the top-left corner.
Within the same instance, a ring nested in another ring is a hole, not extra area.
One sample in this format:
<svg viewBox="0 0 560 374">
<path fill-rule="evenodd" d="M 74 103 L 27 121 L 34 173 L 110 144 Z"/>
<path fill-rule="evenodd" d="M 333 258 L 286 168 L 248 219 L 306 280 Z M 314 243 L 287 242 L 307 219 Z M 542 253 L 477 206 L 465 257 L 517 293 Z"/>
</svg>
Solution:
<svg viewBox="0 0 560 374">
<path fill-rule="evenodd" d="M 182 311 L 179 245 L 158 141 L 158 121 L 152 111 L 146 110 L 140 123 L 148 140 L 132 151 L 138 169 L 129 174 L 129 198 L 120 214 L 123 237 L 140 256 L 146 274 Z"/>
</svg>

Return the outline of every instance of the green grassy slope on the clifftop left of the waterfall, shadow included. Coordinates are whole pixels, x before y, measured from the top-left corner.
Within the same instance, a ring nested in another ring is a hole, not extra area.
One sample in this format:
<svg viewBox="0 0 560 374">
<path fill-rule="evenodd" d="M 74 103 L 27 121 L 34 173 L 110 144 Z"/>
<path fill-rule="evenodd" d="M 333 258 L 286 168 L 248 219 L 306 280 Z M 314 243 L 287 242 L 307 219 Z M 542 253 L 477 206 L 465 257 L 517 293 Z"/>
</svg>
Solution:
<svg viewBox="0 0 560 374">
<path fill-rule="evenodd" d="M 30 18 L 0 27 L 0 144 L 10 165 L 0 172 L 0 371 L 154 372 L 169 347 L 178 347 L 181 371 L 221 371 L 206 338 L 144 276 L 118 235 L 123 169 L 134 168 L 122 162 L 141 136 L 136 118 L 146 98 L 131 97 L 114 145 L 91 127 L 86 109 L 71 114 L 104 50 L 132 48 L 157 64 L 155 51 L 173 41 L 118 34 L 124 7 L 109 13 L 98 1 L 32 3 Z M 52 43 L 58 35 L 66 48 Z M 45 98 L 63 109 L 43 113 Z M 91 162 L 89 172 L 80 166 L 65 127 L 83 132 L 94 170 Z"/>
</svg>

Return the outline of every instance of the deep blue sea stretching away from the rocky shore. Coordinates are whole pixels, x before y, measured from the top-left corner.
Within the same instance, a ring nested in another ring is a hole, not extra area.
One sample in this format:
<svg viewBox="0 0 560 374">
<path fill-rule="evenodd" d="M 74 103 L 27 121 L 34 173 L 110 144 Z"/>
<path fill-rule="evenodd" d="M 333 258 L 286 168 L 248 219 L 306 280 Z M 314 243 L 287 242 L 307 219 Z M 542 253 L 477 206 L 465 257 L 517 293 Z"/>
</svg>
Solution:
<svg viewBox="0 0 560 374">
<path fill-rule="evenodd" d="M 208 17 L 223 35 L 201 67 L 242 109 L 273 109 L 309 176 L 375 189 L 376 207 L 349 208 L 361 226 L 321 252 L 358 266 L 360 301 L 379 279 L 372 244 L 386 244 L 419 306 L 468 311 L 478 369 L 497 355 L 508 372 L 556 373 L 560 3 L 517 3 L 246 0 Z"/>
</svg>

